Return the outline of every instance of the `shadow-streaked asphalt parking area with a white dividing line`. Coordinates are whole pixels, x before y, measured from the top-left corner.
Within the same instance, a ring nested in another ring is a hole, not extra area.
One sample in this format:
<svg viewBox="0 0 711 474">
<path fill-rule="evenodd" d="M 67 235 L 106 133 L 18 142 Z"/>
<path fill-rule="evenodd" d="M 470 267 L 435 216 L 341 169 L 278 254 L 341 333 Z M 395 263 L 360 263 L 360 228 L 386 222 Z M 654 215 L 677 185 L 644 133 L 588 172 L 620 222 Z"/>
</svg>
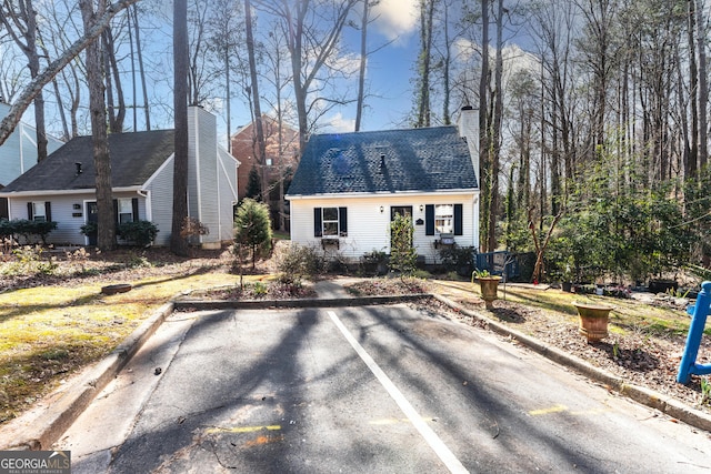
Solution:
<svg viewBox="0 0 711 474">
<path fill-rule="evenodd" d="M 174 313 L 54 447 L 74 473 L 711 471 L 708 433 L 404 304 Z"/>
</svg>

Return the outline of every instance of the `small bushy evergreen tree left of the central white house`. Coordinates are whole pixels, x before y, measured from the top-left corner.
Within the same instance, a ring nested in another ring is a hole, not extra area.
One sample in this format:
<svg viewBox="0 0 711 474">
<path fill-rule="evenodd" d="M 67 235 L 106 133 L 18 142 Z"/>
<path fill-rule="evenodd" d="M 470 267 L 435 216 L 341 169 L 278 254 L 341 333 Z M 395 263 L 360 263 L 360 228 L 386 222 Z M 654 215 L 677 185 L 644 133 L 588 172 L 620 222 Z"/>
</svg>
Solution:
<svg viewBox="0 0 711 474">
<path fill-rule="evenodd" d="M 253 199 L 244 199 L 234 218 L 234 249 L 249 249 L 252 254 L 252 269 L 257 259 L 269 255 L 271 250 L 271 222 L 269 208 Z"/>
</svg>

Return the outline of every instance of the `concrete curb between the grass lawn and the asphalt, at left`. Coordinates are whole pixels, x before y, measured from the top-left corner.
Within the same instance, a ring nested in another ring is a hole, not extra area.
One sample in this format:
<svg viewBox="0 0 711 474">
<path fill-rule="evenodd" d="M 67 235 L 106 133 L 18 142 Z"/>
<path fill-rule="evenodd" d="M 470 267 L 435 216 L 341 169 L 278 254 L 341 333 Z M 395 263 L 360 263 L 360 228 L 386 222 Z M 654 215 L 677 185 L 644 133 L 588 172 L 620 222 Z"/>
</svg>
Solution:
<svg viewBox="0 0 711 474">
<path fill-rule="evenodd" d="M 39 406 L 2 426 L 0 450 L 49 450 L 172 312 L 172 303 L 156 310 L 103 360 Z"/>
</svg>

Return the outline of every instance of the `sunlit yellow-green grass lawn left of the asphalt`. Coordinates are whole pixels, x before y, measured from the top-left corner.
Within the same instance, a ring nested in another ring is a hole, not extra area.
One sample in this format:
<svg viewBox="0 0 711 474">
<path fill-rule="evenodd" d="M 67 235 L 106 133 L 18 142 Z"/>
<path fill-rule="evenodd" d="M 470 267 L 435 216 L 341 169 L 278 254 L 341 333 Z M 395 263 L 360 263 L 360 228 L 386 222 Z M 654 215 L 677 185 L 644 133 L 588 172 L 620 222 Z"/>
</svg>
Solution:
<svg viewBox="0 0 711 474">
<path fill-rule="evenodd" d="M 198 272 L 121 282 L 133 289 L 104 295 L 101 288 L 116 283 L 106 281 L 0 293 L 0 423 L 110 353 L 172 296 L 239 276 Z"/>
</svg>

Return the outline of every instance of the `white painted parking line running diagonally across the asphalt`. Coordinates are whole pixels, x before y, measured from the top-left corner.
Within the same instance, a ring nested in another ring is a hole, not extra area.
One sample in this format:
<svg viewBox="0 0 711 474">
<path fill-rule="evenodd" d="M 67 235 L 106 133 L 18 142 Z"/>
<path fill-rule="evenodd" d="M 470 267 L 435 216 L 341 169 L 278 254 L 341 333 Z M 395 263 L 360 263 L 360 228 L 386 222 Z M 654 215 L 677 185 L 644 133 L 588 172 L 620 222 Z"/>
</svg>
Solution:
<svg viewBox="0 0 711 474">
<path fill-rule="evenodd" d="M 353 335 L 348 331 L 348 329 L 343 325 L 341 320 L 336 315 L 333 311 L 329 311 L 329 316 L 333 324 L 341 331 L 343 337 L 351 344 L 351 346 L 356 350 L 360 359 L 363 360 L 368 369 L 375 375 L 375 379 L 382 384 L 382 386 L 388 391 L 388 394 L 398 404 L 402 413 L 410 420 L 410 423 L 420 432 L 420 435 L 427 441 L 432 451 L 439 456 L 439 458 L 444 463 L 447 468 L 452 473 L 468 473 L 467 468 L 462 465 L 462 463 L 454 456 L 454 454 L 447 447 L 447 445 L 442 442 L 442 440 L 432 431 L 427 423 L 424 423 L 422 416 L 418 414 L 414 407 L 408 402 L 402 392 L 398 390 L 398 387 L 392 383 L 390 377 L 385 375 L 385 373 L 378 366 L 373 357 L 370 356 L 368 352 L 363 349 L 362 345 L 353 337 Z"/>
</svg>

